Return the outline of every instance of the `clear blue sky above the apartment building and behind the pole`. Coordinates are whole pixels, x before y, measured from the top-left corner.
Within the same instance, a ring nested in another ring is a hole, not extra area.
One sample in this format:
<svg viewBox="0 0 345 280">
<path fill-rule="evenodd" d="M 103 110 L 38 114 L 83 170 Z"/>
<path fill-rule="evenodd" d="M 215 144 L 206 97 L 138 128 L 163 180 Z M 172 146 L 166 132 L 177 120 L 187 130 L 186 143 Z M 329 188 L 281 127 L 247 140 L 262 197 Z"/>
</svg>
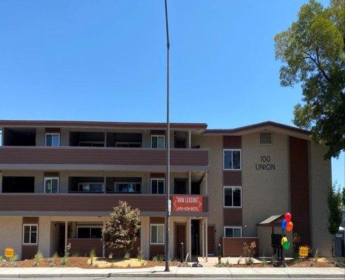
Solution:
<svg viewBox="0 0 345 280">
<path fill-rule="evenodd" d="M 170 0 L 172 121 L 291 125 L 273 37 L 303 3 Z M 1 1 L 0 38 L 0 118 L 165 121 L 163 0 Z"/>
</svg>

